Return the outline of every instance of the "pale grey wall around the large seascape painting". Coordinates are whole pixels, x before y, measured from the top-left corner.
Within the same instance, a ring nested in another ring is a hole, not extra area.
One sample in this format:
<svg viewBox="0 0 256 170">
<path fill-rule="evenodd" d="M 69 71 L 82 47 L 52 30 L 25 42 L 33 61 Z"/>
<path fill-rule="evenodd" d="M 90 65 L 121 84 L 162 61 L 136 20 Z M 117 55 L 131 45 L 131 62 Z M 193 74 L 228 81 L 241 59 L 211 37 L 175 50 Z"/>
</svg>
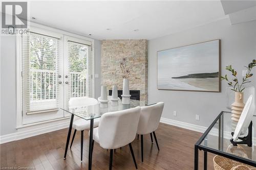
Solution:
<svg viewBox="0 0 256 170">
<path fill-rule="evenodd" d="M 163 101 L 162 117 L 208 127 L 226 109 L 226 82 L 222 92 L 157 90 L 157 51 L 192 43 L 221 39 L 221 74 L 232 65 L 242 74 L 243 65 L 256 58 L 256 21 L 230 25 L 228 18 L 148 41 L 148 103 Z M 209 61 L 210 62 L 210 61 Z M 256 68 L 250 85 L 256 86 Z M 241 78 L 241 77 L 240 77 Z M 177 116 L 173 116 L 177 111 Z M 196 114 L 200 120 L 195 120 Z"/>
</svg>

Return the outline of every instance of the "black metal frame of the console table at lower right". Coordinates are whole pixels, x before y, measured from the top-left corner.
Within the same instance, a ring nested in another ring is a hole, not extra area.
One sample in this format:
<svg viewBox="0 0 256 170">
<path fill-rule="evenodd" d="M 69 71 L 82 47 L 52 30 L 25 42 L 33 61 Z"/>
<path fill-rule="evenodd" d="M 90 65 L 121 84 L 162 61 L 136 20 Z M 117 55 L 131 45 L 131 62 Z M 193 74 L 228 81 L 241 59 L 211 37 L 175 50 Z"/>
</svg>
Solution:
<svg viewBox="0 0 256 170">
<path fill-rule="evenodd" d="M 204 170 L 207 169 L 207 152 L 216 154 L 216 155 L 220 155 L 235 161 L 239 161 L 251 166 L 256 166 L 256 162 L 253 160 L 249 160 L 249 159 L 245 159 L 243 157 L 239 157 L 236 155 L 232 155 L 226 152 L 223 152 L 223 114 L 225 111 L 221 111 L 221 113 L 216 117 L 216 119 L 214 120 L 214 122 L 212 122 L 212 124 L 207 128 L 207 130 L 204 132 L 204 134 L 200 137 L 200 139 L 197 141 L 197 143 L 195 144 L 195 158 L 194 158 L 194 169 L 198 170 L 198 152 L 200 151 L 204 151 Z M 212 149 L 212 148 L 208 148 L 205 147 L 204 145 L 200 145 L 200 143 L 205 139 L 205 137 L 208 135 L 208 133 L 210 132 L 210 130 L 214 127 L 214 125 L 217 123 L 217 121 L 219 120 L 219 150 L 216 149 Z M 222 128 L 221 128 L 222 127 Z M 221 150 L 221 151 L 220 151 Z"/>
</svg>

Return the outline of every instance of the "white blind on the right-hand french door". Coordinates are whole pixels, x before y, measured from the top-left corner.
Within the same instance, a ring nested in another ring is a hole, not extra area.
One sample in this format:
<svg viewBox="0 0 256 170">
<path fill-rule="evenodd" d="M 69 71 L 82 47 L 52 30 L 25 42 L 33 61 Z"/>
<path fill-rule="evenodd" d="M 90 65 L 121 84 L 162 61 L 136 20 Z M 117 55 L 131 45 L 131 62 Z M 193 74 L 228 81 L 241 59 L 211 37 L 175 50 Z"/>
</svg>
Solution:
<svg viewBox="0 0 256 170">
<path fill-rule="evenodd" d="M 68 41 L 69 98 L 92 96 L 92 47 L 91 44 Z"/>
</svg>

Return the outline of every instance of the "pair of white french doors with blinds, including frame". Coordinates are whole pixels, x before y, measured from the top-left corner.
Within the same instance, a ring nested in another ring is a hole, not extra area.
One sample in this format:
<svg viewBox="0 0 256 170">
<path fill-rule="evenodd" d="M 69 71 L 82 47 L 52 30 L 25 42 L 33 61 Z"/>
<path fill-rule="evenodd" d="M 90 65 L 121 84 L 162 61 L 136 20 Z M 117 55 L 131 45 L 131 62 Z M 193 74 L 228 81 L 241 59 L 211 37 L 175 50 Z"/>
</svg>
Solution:
<svg viewBox="0 0 256 170">
<path fill-rule="evenodd" d="M 92 43 L 31 29 L 22 37 L 23 125 L 69 116 L 70 98 L 92 96 Z"/>
</svg>

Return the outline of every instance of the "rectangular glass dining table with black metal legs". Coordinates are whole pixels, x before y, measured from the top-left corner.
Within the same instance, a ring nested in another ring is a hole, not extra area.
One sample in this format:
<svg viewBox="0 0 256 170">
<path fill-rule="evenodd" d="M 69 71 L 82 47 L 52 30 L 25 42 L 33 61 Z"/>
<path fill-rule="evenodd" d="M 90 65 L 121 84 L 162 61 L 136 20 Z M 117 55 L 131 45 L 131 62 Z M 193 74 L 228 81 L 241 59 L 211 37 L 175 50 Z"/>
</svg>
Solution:
<svg viewBox="0 0 256 170">
<path fill-rule="evenodd" d="M 89 168 L 89 170 L 91 170 L 92 169 L 92 143 L 93 143 L 94 119 L 101 117 L 104 113 L 107 113 L 107 112 L 114 112 L 114 111 L 130 109 L 130 108 L 134 108 L 137 106 L 148 106 L 146 102 L 138 101 L 138 100 L 130 100 L 130 104 L 122 104 L 122 101 L 119 100 L 117 106 L 113 106 L 113 105 L 116 105 L 116 103 L 114 104 L 114 103 L 112 103 L 112 101 L 109 101 L 107 103 L 107 105 L 97 103 L 97 104 L 79 106 L 79 107 L 67 106 L 67 107 L 60 108 L 60 109 L 64 110 L 65 112 L 68 112 L 71 114 L 64 159 L 66 159 L 67 152 L 68 152 L 74 116 L 77 116 L 77 117 L 85 119 L 85 120 L 90 120 L 88 168 Z"/>
</svg>

